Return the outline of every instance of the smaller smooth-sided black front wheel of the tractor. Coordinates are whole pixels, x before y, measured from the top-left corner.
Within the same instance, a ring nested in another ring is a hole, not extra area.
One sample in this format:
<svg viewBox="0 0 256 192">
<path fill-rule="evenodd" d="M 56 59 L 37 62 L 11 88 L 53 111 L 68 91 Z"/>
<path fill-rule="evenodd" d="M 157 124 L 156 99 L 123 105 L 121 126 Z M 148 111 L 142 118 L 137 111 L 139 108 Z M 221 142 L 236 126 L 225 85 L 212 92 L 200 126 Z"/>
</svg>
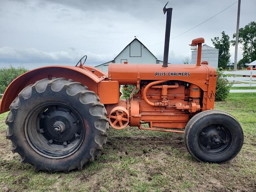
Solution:
<svg viewBox="0 0 256 192">
<path fill-rule="evenodd" d="M 232 115 L 208 110 L 190 119 L 185 128 L 184 141 L 188 152 L 197 160 L 223 163 L 240 152 L 244 134 Z"/>
</svg>

